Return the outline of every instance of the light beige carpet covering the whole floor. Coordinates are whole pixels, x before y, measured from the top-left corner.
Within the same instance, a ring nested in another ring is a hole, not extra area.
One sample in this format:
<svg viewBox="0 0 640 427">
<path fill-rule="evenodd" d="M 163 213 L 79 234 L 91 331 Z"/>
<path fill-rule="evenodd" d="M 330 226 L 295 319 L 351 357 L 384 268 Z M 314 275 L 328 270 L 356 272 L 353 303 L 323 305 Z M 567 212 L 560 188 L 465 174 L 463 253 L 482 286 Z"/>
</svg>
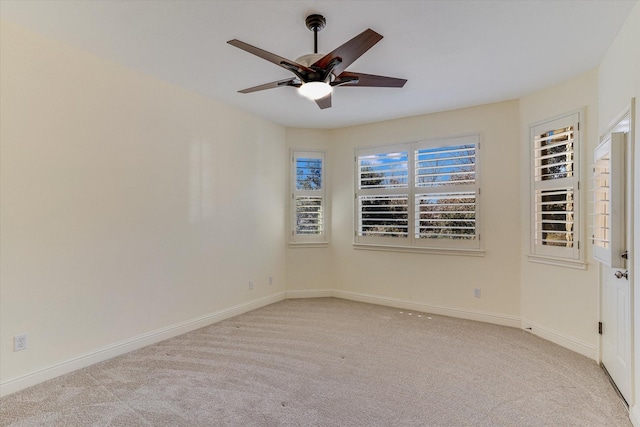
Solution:
<svg viewBox="0 0 640 427">
<path fill-rule="evenodd" d="M 519 329 L 286 300 L 0 400 L 2 426 L 630 426 L 597 364 Z"/>
</svg>

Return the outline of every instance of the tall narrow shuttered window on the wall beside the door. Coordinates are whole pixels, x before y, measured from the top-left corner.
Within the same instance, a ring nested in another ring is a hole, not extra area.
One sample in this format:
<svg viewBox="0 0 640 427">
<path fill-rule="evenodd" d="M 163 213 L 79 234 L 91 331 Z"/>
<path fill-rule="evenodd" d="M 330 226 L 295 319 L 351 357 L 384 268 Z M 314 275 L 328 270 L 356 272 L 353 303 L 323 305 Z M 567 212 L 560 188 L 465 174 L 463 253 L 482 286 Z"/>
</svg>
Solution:
<svg viewBox="0 0 640 427">
<path fill-rule="evenodd" d="M 531 255 L 580 262 L 579 113 L 530 127 Z"/>
</svg>

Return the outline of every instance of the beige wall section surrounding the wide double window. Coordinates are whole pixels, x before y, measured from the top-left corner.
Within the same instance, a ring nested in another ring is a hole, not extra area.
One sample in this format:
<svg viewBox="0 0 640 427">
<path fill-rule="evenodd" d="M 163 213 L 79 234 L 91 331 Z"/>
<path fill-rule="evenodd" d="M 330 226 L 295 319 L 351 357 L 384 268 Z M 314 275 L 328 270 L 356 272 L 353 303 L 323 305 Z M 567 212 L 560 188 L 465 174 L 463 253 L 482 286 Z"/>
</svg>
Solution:
<svg viewBox="0 0 640 427">
<path fill-rule="evenodd" d="M 481 137 L 481 234 L 484 257 L 379 252 L 353 248 L 356 147 L 478 133 Z M 337 129 L 331 133 L 332 246 L 335 286 L 500 322 L 520 314 L 518 102 Z M 288 266 L 291 270 L 295 268 Z M 473 289 L 482 297 L 474 298 Z M 482 318 L 482 316 L 480 316 Z"/>
</svg>

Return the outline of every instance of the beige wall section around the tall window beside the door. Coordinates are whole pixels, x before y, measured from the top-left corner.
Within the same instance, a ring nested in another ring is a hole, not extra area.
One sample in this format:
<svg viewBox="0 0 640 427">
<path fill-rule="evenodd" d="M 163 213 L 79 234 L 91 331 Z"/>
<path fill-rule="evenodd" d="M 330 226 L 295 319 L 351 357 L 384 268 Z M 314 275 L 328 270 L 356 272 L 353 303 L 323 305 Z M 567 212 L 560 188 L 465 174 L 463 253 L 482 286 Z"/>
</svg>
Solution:
<svg viewBox="0 0 640 427">
<path fill-rule="evenodd" d="M 520 190 L 522 194 L 522 320 L 533 332 L 569 346 L 593 359 L 598 358 L 598 266 L 591 260 L 591 245 L 582 240 L 586 270 L 531 262 L 529 224 L 529 125 L 586 107 L 581 123 L 582 234 L 589 230 L 588 167 L 598 144 L 598 73 L 577 76 L 554 87 L 520 99 Z"/>
</svg>

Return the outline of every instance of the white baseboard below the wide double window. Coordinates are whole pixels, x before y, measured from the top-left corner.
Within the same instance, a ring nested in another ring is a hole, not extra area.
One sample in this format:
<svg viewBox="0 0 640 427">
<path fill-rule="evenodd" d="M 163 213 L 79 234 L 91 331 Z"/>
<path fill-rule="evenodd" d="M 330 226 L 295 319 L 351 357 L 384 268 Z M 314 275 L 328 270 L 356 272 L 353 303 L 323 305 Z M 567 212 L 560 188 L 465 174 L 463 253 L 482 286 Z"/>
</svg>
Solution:
<svg viewBox="0 0 640 427">
<path fill-rule="evenodd" d="M 356 292 L 333 291 L 331 296 L 349 299 L 353 301 L 367 302 L 370 304 L 386 305 L 388 307 L 403 308 L 405 310 L 422 311 L 441 316 L 457 317 L 460 319 L 477 320 L 479 322 L 493 323 L 496 325 L 520 327 L 520 318 L 506 314 L 487 313 L 475 310 L 462 310 L 458 308 L 441 307 L 437 305 L 421 304 L 405 301 L 397 298 L 380 297 L 376 295 L 360 294 Z"/>
</svg>

